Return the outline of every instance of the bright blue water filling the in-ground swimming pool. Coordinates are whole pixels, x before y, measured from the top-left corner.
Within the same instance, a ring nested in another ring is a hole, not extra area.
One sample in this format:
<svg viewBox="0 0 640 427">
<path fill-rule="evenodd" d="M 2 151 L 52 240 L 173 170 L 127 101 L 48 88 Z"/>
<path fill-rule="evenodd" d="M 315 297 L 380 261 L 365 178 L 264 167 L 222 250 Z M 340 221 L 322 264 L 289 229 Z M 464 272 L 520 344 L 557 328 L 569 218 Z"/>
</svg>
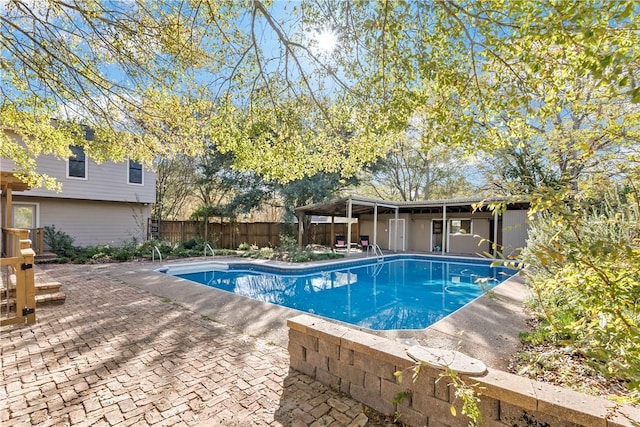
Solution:
<svg viewBox="0 0 640 427">
<path fill-rule="evenodd" d="M 231 264 L 227 270 L 175 276 L 357 326 L 392 330 L 426 328 L 513 274 L 483 261 L 405 257 L 295 271 Z"/>
</svg>

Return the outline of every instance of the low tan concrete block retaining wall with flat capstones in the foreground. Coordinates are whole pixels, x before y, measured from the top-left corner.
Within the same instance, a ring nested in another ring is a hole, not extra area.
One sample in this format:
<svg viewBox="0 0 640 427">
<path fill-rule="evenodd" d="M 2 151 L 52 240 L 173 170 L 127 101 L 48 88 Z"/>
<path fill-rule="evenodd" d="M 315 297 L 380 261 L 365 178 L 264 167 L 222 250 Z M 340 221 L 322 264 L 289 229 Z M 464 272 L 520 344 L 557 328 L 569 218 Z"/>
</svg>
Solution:
<svg viewBox="0 0 640 427">
<path fill-rule="evenodd" d="M 392 340 L 308 315 L 288 321 L 291 367 L 341 390 L 383 414 L 397 413 L 410 426 L 464 426 L 461 402 L 442 371 L 422 367 L 415 382 L 415 362 Z M 404 371 L 398 383 L 394 372 Z M 465 377 L 463 377 L 465 378 Z M 507 372 L 489 369 L 465 378 L 480 393 L 483 425 L 618 427 L 639 426 L 640 408 L 615 406 L 588 396 Z M 399 393 L 407 397 L 393 403 Z M 451 405 L 457 409 L 453 416 Z"/>
</svg>

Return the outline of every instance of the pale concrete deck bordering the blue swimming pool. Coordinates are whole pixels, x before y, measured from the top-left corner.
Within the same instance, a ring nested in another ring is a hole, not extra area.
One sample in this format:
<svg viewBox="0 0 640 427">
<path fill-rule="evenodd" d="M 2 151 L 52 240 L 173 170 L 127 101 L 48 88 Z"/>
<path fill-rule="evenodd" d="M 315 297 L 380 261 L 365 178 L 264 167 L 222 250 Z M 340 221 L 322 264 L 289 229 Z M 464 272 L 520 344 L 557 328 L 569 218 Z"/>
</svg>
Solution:
<svg viewBox="0 0 640 427">
<path fill-rule="evenodd" d="M 295 266 L 291 263 L 247 261 L 235 257 L 220 257 L 220 259 L 224 262 L 270 265 L 279 268 Z M 219 262 L 220 259 L 217 261 Z M 473 258 L 466 257 L 466 259 Z M 350 260 L 340 261 L 344 264 L 357 260 L 353 257 Z M 475 260 L 480 259 L 475 258 Z M 335 260 L 330 261 L 335 263 Z M 164 266 L 179 263 L 184 263 L 184 260 L 166 262 Z M 315 262 L 305 266 L 326 266 L 327 263 Z M 102 272 L 128 285 L 144 289 L 158 297 L 169 298 L 175 304 L 203 317 L 249 335 L 262 337 L 284 348 L 288 344 L 287 319 L 299 314 L 308 314 L 159 273 L 156 271 L 160 267 L 158 264 L 123 263 L 92 267 L 92 270 Z M 527 327 L 528 316 L 523 308 L 523 302 L 528 295 L 529 289 L 520 277 L 515 276 L 494 287 L 491 293 L 479 297 L 426 329 L 375 331 L 335 322 L 355 330 L 398 340 L 406 343 L 407 346 L 418 343 L 459 350 L 482 360 L 487 366 L 505 370 L 508 368 L 511 356 L 520 347 L 519 333 Z M 320 318 L 326 320 L 324 317 Z"/>
</svg>

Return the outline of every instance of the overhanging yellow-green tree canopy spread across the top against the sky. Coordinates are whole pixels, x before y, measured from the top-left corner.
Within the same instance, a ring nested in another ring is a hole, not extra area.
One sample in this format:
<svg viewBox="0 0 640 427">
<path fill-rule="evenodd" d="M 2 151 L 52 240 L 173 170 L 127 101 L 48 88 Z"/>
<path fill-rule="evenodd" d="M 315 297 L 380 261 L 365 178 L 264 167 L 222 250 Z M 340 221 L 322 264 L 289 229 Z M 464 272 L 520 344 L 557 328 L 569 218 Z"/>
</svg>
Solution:
<svg viewBox="0 0 640 427">
<path fill-rule="evenodd" d="M 150 162 L 213 140 L 270 179 L 348 175 L 418 108 L 448 143 L 490 149 L 589 105 L 585 87 L 628 105 L 612 126 L 637 126 L 638 20 L 631 0 L 14 0 L 0 14 L 0 121 L 25 145 L 2 133 L 0 155 L 34 182 L 37 157 L 70 143 Z"/>
</svg>

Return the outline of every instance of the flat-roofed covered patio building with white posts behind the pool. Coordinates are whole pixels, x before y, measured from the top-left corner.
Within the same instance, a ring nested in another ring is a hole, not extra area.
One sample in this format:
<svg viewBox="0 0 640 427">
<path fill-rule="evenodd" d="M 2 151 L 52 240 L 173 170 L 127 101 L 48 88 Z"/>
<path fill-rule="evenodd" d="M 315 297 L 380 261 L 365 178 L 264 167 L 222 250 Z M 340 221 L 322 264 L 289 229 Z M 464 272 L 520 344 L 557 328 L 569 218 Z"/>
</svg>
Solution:
<svg viewBox="0 0 640 427">
<path fill-rule="evenodd" d="M 502 205 L 502 209 L 490 209 Z M 335 237 L 336 217 L 347 218 L 346 250 L 355 235 L 367 235 L 381 249 L 429 253 L 478 255 L 513 254 L 526 245 L 529 202 L 507 198 L 460 198 L 425 201 L 388 201 L 350 195 L 326 203 L 295 209 L 298 242 L 302 224 L 310 215 L 331 217 Z M 354 220 L 357 219 L 357 222 Z"/>
</svg>

